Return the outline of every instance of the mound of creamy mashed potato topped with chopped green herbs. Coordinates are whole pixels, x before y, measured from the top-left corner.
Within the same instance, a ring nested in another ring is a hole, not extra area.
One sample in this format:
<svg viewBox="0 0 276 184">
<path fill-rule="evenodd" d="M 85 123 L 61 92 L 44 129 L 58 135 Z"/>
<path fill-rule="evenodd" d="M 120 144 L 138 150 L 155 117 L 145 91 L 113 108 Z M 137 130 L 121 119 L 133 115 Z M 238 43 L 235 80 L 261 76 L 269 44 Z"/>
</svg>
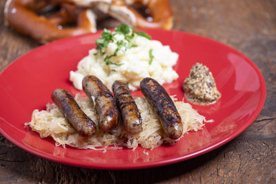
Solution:
<svg viewBox="0 0 276 184">
<path fill-rule="evenodd" d="M 97 49 L 90 50 L 78 63 L 77 71 L 70 71 L 70 81 L 79 90 L 83 77 L 90 74 L 101 79 L 110 90 L 114 81 L 127 81 L 132 91 L 139 89 L 145 77 L 152 77 L 161 85 L 179 77 L 172 69 L 178 54 L 128 25 L 119 25 L 114 32 L 103 30 L 95 43 Z"/>
</svg>

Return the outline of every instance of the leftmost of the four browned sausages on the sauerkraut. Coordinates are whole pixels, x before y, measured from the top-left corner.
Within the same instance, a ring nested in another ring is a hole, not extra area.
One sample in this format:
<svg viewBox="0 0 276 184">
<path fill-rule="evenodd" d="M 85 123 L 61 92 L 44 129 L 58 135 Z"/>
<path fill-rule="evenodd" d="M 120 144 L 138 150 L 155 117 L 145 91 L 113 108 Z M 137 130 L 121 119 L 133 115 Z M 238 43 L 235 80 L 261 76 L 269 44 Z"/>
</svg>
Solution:
<svg viewBox="0 0 276 184">
<path fill-rule="evenodd" d="M 68 91 L 56 89 L 52 92 L 51 98 L 61 110 L 68 123 L 70 123 L 81 136 L 90 137 L 96 133 L 96 124 L 81 110 Z"/>
</svg>

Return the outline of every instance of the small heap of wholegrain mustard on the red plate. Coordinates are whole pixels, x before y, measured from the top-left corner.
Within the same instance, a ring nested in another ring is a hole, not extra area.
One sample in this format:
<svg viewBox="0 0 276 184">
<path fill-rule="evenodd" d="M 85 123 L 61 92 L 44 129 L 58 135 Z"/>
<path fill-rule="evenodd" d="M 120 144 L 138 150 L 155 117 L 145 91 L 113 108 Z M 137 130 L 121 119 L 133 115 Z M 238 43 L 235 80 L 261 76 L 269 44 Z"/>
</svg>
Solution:
<svg viewBox="0 0 276 184">
<path fill-rule="evenodd" d="M 215 103 L 221 97 L 212 73 L 201 63 L 193 65 L 183 89 L 186 99 L 199 105 Z"/>
</svg>

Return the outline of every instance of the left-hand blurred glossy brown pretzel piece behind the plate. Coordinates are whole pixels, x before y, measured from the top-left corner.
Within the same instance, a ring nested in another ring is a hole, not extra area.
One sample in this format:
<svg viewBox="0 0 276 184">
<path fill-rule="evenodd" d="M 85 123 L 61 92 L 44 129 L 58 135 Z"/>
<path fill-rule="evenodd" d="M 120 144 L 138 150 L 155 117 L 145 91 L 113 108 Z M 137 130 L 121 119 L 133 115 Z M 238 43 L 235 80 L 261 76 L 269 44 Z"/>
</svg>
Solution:
<svg viewBox="0 0 276 184">
<path fill-rule="evenodd" d="M 50 18 L 39 16 L 37 11 L 47 6 L 59 5 L 55 0 L 8 0 L 5 17 L 8 24 L 19 32 L 42 43 L 88 32 L 96 32 L 95 14 L 92 10 L 77 8 L 70 3 L 60 3 L 61 9 Z M 77 21 L 75 28 L 62 25 Z"/>
</svg>

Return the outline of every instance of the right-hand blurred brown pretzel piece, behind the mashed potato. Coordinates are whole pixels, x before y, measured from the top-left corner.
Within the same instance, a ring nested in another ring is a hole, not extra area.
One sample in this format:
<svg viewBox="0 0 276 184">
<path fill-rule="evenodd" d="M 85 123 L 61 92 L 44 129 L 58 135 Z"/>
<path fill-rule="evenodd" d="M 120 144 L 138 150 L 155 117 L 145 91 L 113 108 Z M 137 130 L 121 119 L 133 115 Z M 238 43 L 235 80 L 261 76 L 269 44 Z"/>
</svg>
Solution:
<svg viewBox="0 0 276 184">
<path fill-rule="evenodd" d="M 169 0 L 64 0 L 77 6 L 96 7 L 123 23 L 139 28 L 172 28 L 172 10 Z M 152 20 L 145 19 L 130 6 L 141 4 L 150 10 Z"/>
</svg>

